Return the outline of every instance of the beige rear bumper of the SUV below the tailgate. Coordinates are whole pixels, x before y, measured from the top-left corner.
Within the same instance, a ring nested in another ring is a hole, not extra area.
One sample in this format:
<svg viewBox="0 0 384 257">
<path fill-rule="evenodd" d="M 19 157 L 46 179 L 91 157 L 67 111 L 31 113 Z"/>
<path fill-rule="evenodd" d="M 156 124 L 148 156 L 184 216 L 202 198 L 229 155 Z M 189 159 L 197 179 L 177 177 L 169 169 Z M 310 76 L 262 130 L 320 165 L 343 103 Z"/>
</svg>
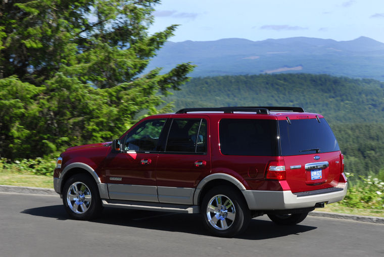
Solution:
<svg viewBox="0 0 384 257">
<path fill-rule="evenodd" d="M 315 207 L 317 202 L 337 202 L 347 194 L 348 183 L 339 183 L 329 190 L 314 190 L 306 193 L 292 191 L 242 191 L 250 210 L 286 210 Z M 339 190 L 334 190 L 339 189 Z"/>
</svg>

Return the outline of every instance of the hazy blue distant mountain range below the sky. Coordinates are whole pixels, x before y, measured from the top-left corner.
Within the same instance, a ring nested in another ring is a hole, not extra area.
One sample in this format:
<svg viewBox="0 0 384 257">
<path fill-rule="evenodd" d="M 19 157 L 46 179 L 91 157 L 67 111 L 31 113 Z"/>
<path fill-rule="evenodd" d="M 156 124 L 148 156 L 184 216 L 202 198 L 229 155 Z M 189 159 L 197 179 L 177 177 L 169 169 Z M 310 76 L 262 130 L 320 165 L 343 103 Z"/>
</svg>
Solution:
<svg viewBox="0 0 384 257">
<path fill-rule="evenodd" d="M 183 62 L 197 65 L 189 74 L 192 77 L 312 73 L 384 81 L 384 43 L 368 37 L 351 41 L 308 37 L 168 41 L 147 71 L 163 67 L 166 72 Z"/>
</svg>

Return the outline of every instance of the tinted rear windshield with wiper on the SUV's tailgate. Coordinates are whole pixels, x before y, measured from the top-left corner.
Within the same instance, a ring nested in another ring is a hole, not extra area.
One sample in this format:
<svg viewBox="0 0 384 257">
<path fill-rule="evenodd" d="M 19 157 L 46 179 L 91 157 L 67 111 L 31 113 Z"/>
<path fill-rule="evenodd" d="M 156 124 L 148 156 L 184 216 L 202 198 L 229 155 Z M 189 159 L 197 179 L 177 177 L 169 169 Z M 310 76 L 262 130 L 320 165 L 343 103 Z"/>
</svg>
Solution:
<svg viewBox="0 0 384 257">
<path fill-rule="evenodd" d="M 282 156 L 339 151 L 339 144 L 325 119 L 279 121 Z"/>
</svg>

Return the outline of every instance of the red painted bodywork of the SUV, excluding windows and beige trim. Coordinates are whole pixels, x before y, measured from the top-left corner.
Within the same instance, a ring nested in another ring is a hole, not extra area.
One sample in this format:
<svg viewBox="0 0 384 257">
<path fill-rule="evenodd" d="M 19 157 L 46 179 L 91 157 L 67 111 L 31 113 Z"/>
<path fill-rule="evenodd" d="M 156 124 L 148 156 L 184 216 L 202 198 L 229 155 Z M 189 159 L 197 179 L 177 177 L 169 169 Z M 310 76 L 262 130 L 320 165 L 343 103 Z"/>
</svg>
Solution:
<svg viewBox="0 0 384 257">
<path fill-rule="evenodd" d="M 55 169 L 54 177 L 59 177 L 60 172 L 71 163 L 81 162 L 90 166 L 98 174 L 102 183 L 196 188 L 199 182 L 208 175 L 225 173 L 236 178 L 246 189 L 250 190 L 301 192 L 328 188 L 332 187 L 335 182 L 346 182 L 344 181 L 345 177 L 342 176 L 344 164 L 342 164 L 340 151 L 284 157 L 228 156 L 222 155 L 220 151 L 219 122 L 223 118 L 285 120 L 286 117 L 289 117 L 291 120 L 297 120 L 316 119 L 316 115 L 271 112 L 269 115 L 189 113 L 151 116 L 140 122 L 149 119 L 205 119 L 207 122 L 206 154 L 189 155 L 161 151 L 150 153 L 116 152 L 112 150 L 110 143 L 75 146 L 62 153 L 63 165 L 61 169 Z M 323 118 L 321 115 L 317 116 Z M 123 139 L 126 133 L 120 138 Z M 321 179 L 311 180 L 310 171 L 305 171 L 304 167 L 307 163 L 317 162 L 314 160 L 315 156 L 319 156 L 320 161 L 327 161 L 329 167 L 322 170 Z M 265 179 L 267 166 L 271 161 L 283 161 L 285 163 L 286 180 Z M 202 164 L 196 165 L 197 162 Z M 301 165 L 300 169 L 290 168 L 298 165 Z M 114 181 L 110 180 L 110 177 L 121 177 L 122 180 Z"/>
</svg>

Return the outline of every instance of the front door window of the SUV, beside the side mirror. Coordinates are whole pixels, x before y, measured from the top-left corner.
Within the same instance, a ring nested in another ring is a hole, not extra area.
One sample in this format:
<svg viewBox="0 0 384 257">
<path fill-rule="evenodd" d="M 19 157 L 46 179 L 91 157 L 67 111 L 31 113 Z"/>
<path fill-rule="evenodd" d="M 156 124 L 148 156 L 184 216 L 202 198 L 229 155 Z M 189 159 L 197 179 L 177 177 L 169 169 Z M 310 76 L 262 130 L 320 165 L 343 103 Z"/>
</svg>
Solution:
<svg viewBox="0 0 384 257">
<path fill-rule="evenodd" d="M 124 143 L 124 150 L 156 151 L 164 124 L 165 119 L 142 122 L 128 133 Z"/>
</svg>

